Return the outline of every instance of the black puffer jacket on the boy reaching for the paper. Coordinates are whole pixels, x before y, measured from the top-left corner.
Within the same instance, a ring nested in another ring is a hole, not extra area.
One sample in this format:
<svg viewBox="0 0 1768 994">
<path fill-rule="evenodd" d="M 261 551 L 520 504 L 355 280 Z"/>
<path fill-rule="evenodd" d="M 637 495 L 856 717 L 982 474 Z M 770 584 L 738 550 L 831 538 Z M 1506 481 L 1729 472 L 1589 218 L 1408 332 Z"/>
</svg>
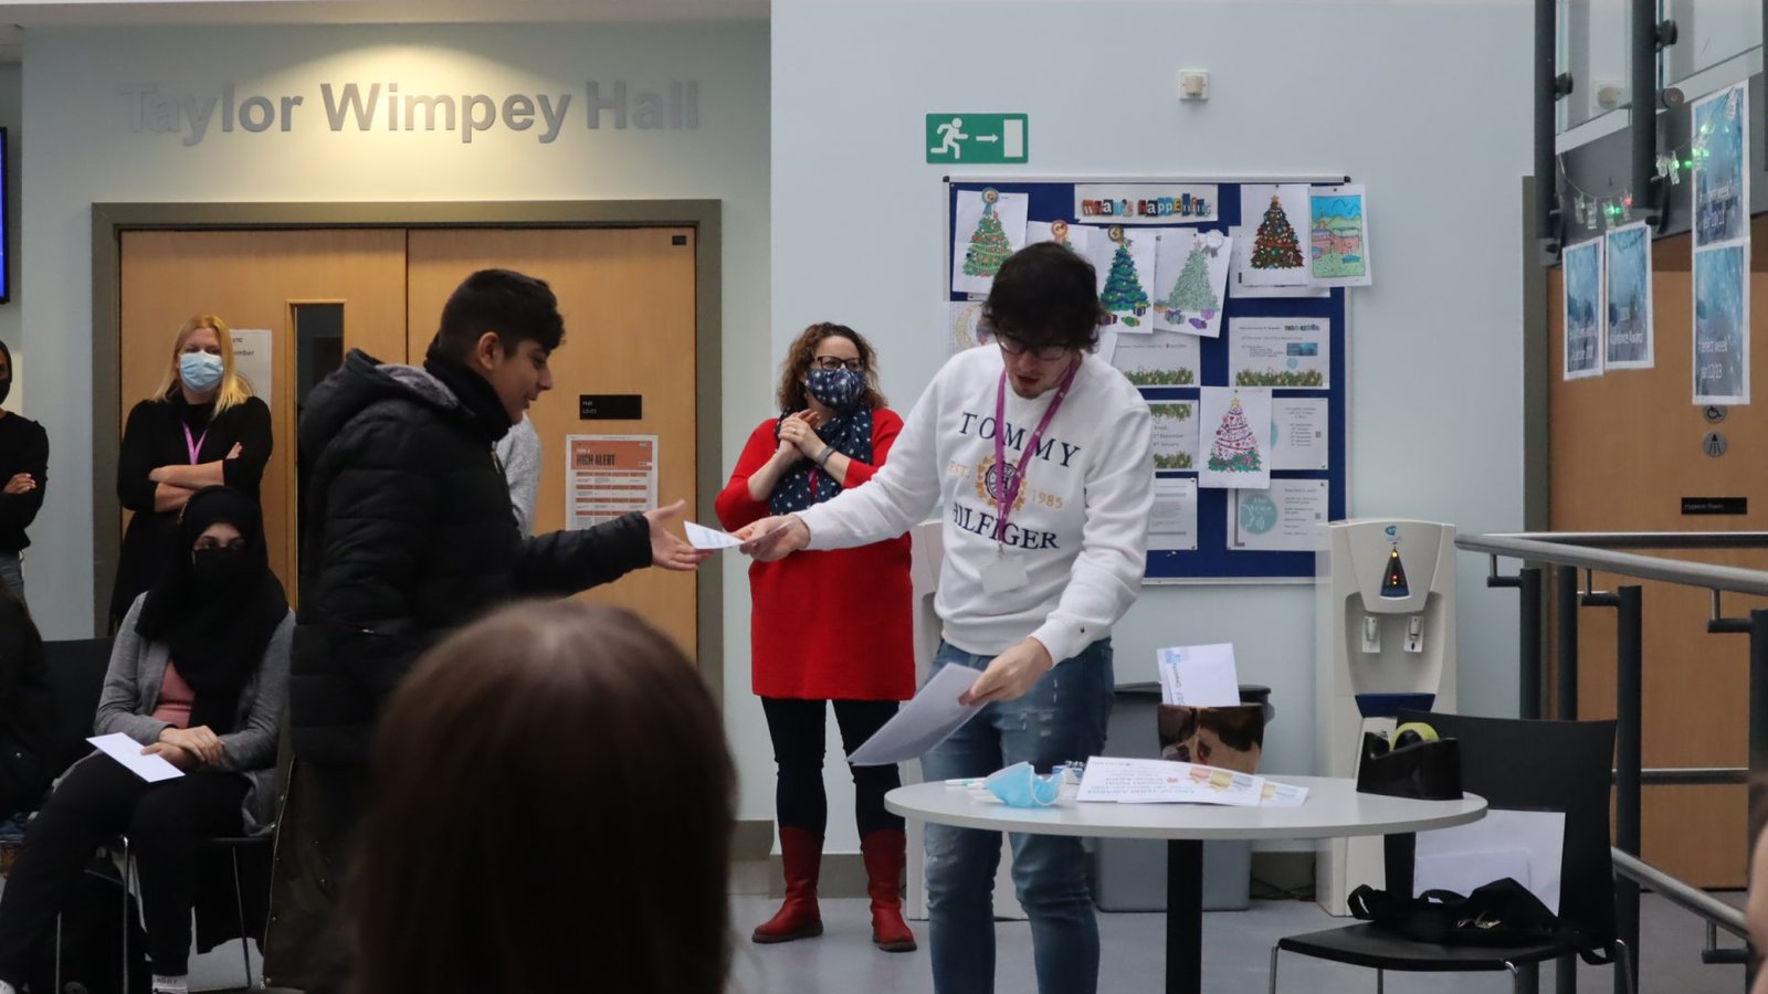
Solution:
<svg viewBox="0 0 1768 994">
<path fill-rule="evenodd" d="M 306 762 L 366 762 L 382 704 L 447 630 L 516 596 L 564 596 L 651 564 L 636 513 L 523 538 L 492 455 L 509 428 L 495 393 L 465 370 L 451 378 L 484 396 L 352 350 L 301 414 L 290 729 Z"/>
</svg>

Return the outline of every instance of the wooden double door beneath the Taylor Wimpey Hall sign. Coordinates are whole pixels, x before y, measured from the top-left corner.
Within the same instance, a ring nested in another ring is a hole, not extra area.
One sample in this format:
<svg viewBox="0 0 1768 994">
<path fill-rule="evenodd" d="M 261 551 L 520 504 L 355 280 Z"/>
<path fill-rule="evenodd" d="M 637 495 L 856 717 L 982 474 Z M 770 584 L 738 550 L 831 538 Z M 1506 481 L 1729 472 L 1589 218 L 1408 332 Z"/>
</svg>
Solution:
<svg viewBox="0 0 1768 994">
<path fill-rule="evenodd" d="M 534 531 L 566 525 L 568 435 L 656 435 L 658 497 L 686 499 L 693 518 L 693 228 L 124 232 L 120 410 L 127 417 L 159 384 L 177 329 L 194 313 L 219 315 L 262 343 L 249 378 L 269 396 L 276 437 L 263 476 L 267 543 L 293 596 L 302 398 L 352 348 L 423 363 L 447 295 L 486 267 L 545 279 L 566 320 L 553 389 L 529 410 L 543 453 Z M 580 394 L 638 394 L 642 417 L 580 421 Z M 691 573 L 644 570 L 583 596 L 642 614 L 697 656 Z"/>
</svg>

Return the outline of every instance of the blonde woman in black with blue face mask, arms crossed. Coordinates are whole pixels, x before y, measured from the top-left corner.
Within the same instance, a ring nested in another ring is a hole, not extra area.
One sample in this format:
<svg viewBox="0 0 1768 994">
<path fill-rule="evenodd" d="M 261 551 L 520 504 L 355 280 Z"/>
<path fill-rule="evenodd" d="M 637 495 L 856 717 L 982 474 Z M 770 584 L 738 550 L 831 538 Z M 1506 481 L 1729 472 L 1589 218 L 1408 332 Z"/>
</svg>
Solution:
<svg viewBox="0 0 1768 994">
<path fill-rule="evenodd" d="M 203 486 L 226 485 L 253 502 L 271 462 L 271 409 L 233 368 L 233 336 L 216 315 L 184 322 L 154 396 L 122 430 L 117 497 L 134 511 L 122 536 L 111 630 L 179 557 L 179 511 Z"/>
</svg>

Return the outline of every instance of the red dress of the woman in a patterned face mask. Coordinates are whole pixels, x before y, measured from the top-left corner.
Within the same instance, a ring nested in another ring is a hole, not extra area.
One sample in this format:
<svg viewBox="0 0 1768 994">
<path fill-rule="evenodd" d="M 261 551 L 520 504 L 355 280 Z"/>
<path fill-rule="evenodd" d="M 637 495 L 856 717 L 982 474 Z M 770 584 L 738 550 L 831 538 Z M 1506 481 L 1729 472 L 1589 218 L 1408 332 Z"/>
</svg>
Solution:
<svg viewBox="0 0 1768 994">
<path fill-rule="evenodd" d="M 776 417 L 750 435 L 730 483 L 718 495 L 728 531 L 766 518 L 767 501 L 750 499 L 750 474 L 773 458 Z M 861 486 L 884 465 L 902 432 L 895 410 L 872 412 L 872 465 L 847 463 L 843 488 Z M 810 700 L 907 700 L 914 697 L 914 631 L 909 536 L 797 552 L 750 564 L 750 654 L 755 693 Z"/>
</svg>

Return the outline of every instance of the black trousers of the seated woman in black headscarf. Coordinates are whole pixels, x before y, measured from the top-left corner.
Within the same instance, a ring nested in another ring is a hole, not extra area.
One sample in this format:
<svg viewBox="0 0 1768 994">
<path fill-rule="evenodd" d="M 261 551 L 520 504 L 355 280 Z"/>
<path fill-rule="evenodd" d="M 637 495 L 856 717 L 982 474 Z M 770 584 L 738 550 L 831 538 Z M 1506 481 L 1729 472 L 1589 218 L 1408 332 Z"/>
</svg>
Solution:
<svg viewBox="0 0 1768 994">
<path fill-rule="evenodd" d="M 239 835 L 249 784 L 239 773 L 191 773 L 149 784 L 106 755 L 76 764 L 25 830 L 0 893 L 0 980 L 25 982 L 62 902 L 108 838 L 129 837 L 154 973 L 189 973 L 196 853 Z"/>
</svg>

